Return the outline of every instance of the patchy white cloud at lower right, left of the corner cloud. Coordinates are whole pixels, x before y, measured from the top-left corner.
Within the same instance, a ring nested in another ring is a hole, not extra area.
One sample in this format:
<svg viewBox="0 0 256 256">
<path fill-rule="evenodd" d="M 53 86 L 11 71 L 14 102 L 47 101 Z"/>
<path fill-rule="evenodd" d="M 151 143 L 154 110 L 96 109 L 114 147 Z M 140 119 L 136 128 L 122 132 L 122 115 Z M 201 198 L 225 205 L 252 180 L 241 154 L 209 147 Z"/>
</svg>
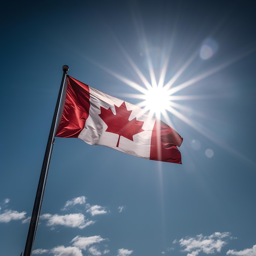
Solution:
<svg viewBox="0 0 256 256">
<path fill-rule="evenodd" d="M 220 252 L 222 247 L 226 245 L 223 238 L 230 237 L 229 232 L 215 232 L 211 236 L 203 236 L 202 234 L 196 237 L 182 238 L 179 240 L 180 246 L 185 247 L 183 252 L 188 252 L 188 256 L 197 256 L 199 252 L 206 254 L 214 254 Z M 173 243 L 177 243 L 176 240 Z"/>
</svg>

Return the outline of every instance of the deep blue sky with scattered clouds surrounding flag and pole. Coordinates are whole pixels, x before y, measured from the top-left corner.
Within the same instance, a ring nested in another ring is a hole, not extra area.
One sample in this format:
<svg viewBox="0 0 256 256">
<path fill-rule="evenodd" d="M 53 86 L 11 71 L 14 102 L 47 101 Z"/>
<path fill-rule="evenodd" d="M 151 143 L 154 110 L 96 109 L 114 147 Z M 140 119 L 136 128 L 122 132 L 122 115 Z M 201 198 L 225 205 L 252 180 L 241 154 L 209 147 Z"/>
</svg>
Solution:
<svg viewBox="0 0 256 256">
<path fill-rule="evenodd" d="M 125 81 L 167 61 L 182 165 L 56 138 L 34 255 L 256 255 L 253 1 L 14 1 L 0 19 L 0 255 L 25 247 L 62 66 L 137 104 Z"/>
</svg>

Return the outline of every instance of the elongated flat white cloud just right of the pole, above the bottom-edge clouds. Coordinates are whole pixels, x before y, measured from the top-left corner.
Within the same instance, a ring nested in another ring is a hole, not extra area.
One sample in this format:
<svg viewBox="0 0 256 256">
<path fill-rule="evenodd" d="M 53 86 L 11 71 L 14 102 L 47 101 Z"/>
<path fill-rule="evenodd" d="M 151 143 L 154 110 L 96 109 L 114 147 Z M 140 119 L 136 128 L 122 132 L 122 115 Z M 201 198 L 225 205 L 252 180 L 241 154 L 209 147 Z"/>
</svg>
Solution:
<svg viewBox="0 0 256 256">
<path fill-rule="evenodd" d="M 72 213 L 66 215 L 58 214 L 43 214 L 41 219 L 47 220 L 47 226 L 63 225 L 66 227 L 78 227 L 83 229 L 94 223 L 92 220 L 86 220 L 85 216 L 82 213 Z"/>
</svg>

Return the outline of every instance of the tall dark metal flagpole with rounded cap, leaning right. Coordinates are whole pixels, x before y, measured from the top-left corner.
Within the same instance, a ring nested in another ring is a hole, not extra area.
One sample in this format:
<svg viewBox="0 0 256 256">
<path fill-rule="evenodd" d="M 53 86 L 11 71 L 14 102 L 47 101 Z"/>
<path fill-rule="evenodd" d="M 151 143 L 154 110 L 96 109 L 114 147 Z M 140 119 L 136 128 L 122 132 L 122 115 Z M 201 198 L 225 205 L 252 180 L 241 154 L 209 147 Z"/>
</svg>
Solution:
<svg viewBox="0 0 256 256">
<path fill-rule="evenodd" d="M 66 79 L 69 67 L 67 65 L 64 65 L 62 67 L 62 70 L 63 70 L 63 77 L 62 77 L 62 81 L 61 81 L 61 88 L 58 93 L 58 99 L 57 99 L 57 103 L 56 103 L 56 107 L 55 107 L 55 111 L 54 111 L 54 116 L 52 119 L 52 126 L 51 126 L 51 130 L 49 132 L 49 138 L 48 138 L 47 146 L 46 146 L 46 150 L 45 150 L 45 157 L 43 160 L 43 166 L 41 169 L 41 174 L 40 174 L 40 178 L 39 178 L 39 182 L 38 182 L 36 198 L 35 198 L 35 202 L 34 202 L 34 208 L 32 211 L 32 216 L 31 216 L 30 225 L 29 225 L 29 231 L 27 234 L 27 242 L 25 245 L 25 250 L 24 250 L 23 256 L 31 256 L 33 245 L 34 245 L 34 240 L 36 237 L 36 229 L 37 229 L 37 225 L 38 225 L 40 210 L 42 207 L 43 195 L 45 192 L 45 184 L 46 184 L 46 180 L 47 180 L 49 165 L 50 165 L 50 161 L 51 161 L 51 157 L 52 157 L 52 150 L 53 150 L 53 146 L 54 146 L 54 136 L 55 136 L 56 129 L 57 129 L 58 112 L 59 112 L 60 106 L 61 106 L 61 99 L 63 96 L 63 88 L 64 88 L 65 79 Z"/>
</svg>

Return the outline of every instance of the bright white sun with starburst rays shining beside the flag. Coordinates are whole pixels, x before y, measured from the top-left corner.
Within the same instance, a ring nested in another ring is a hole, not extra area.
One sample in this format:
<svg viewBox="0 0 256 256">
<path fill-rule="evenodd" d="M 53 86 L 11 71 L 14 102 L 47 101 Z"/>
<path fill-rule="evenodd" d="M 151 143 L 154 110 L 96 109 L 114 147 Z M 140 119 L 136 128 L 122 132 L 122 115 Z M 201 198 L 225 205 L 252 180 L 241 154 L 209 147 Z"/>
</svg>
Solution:
<svg viewBox="0 0 256 256">
<path fill-rule="evenodd" d="M 94 63 L 101 69 L 105 70 L 106 72 L 114 76 L 119 81 L 125 83 L 126 85 L 129 85 L 131 88 L 135 89 L 138 92 L 138 93 L 125 93 L 121 95 L 126 98 L 138 99 L 139 102 L 136 105 L 142 108 L 141 114 L 143 114 L 143 112 L 149 112 L 151 115 L 155 115 L 159 119 L 163 117 L 164 121 L 166 121 L 166 123 L 172 126 L 173 128 L 175 127 L 173 125 L 171 117 L 175 116 L 178 119 L 182 120 L 186 125 L 190 126 L 194 130 L 199 132 L 201 135 L 209 139 L 210 141 L 213 141 L 216 145 L 227 150 L 229 153 L 239 156 L 241 157 L 241 159 L 245 159 L 247 162 L 249 162 L 250 164 L 253 164 L 254 166 L 256 165 L 252 160 L 241 155 L 235 149 L 229 147 L 227 144 L 223 142 L 221 138 L 215 135 L 214 132 L 205 128 L 203 124 L 200 124 L 198 121 L 193 120 L 190 116 L 192 114 L 193 116 L 204 117 L 202 112 L 198 112 L 193 108 L 187 107 L 183 104 L 183 102 L 185 101 L 223 98 L 225 97 L 225 95 L 223 94 L 222 95 L 221 94 L 220 95 L 211 95 L 211 94 L 175 95 L 177 92 L 185 90 L 186 88 L 191 87 L 193 85 L 196 85 L 198 82 L 202 81 L 203 79 L 206 79 L 207 77 L 212 76 L 217 72 L 220 72 L 221 70 L 225 69 L 231 64 L 239 61 L 240 59 L 248 56 L 249 54 L 252 54 L 253 52 L 255 52 L 256 48 L 250 49 L 247 52 L 244 52 L 243 54 L 237 55 L 234 58 L 231 58 L 230 60 L 225 61 L 220 65 L 217 65 L 216 67 L 213 67 L 199 75 L 196 75 L 188 79 L 187 81 L 184 81 L 182 83 L 177 83 L 178 79 L 181 78 L 183 74 L 186 74 L 186 70 L 188 69 L 188 67 L 199 56 L 200 51 L 196 50 L 184 62 L 184 64 L 181 65 L 180 69 L 177 70 L 177 72 L 171 77 L 171 79 L 169 79 L 165 83 L 168 65 L 170 62 L 170 59 L 169 59 L 170 58 L 169 55 L 171 53 L 170 49 L 167 49 L 166 54 L 164 54 L 165 59 L 160 69 L 159 79 L 157 81 L 157 76 L 155 74 L 153 61 L 150 58 L 150 54 L 147 49 L 146 40 L 145 39 L 143 40 L 144 47 L 145 47 L 145 54 L 146 54 L 146 63 L 148 65 L 148 74 L 150 78 L 150 81 L 149 81 L 148 79 L 146 79 L 146 75 L 144 75 L 143 72 L 139 69 L 139 67 L 135 64 L 135 62 L 132 60 L 132 58 L 129 56 L 129 54 L 126 52 L 126 50 L 121 45 L 121 43 L 117 40 L 117 38 L 115 38 L 115 41 L 119 49 L 121 50 L 123 56 L 128 61 L 130 67 L 132 67 L 132 70 L 140 79 L 141 84 L 139 84 L 138 82 L 132 81 L 131 79 L 128 79 L 125 76 L 122 76 L 121 74 L 118 74 L 117 72 L 110 70 L 110 68 L 105 67 L 99 63 L 96 63 L 95 61 L 92 61 L 92 60 L 89 60 L 89 61 L 91 63 Z"/>
</svg>

